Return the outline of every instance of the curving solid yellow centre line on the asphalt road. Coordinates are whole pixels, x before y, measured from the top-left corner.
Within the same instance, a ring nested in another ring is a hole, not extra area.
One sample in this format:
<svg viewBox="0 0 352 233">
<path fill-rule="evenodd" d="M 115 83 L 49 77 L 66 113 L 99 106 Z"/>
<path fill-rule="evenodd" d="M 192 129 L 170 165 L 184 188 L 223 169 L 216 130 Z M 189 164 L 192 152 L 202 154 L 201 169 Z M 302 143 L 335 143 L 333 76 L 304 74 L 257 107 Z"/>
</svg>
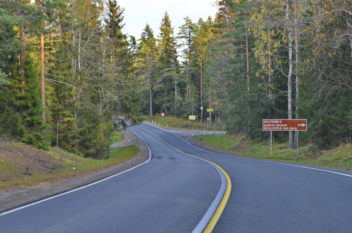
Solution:
<svg viewBox="0 0 352 233">
<path fill-rule="evenodd" d="M 139 126 L 140 127 L 140 126 Z M 143 128 L 143 127 L 140 127 L 140 128 Z M 143 128 L 144 130 L 147 130 L 146 128 Z M 155 134 L 156 136 L 158 136 L 159 138 L 161 138 L 161 140 L 163 140 L 166 144 L 168 144 L 169 146 L 171 146 L 169 143 L 167 143 L 162 137 L 160 137 L 158 134 L 150 131 L 150 130 L 147 130 L 153 134 Z M 194 155 L 190 155 L 188 153 L 185 153 L 183 151 L 180 151 L 178 150 L 177 148 L 175 148 L 174 146 L 171 146 L 172 148 L 174 148 L 175 150 L 185 154 L 185 155 L 189 155 L 189 156 L 192 156 L 192 157 L 195 157 L 195 158 L 199 158 L 199 159 L 202 159 L 204 161 L 207 161 L 208 163 L 211 163 L 211 164 L 214 164 L 215 166 L 217 166 L 221 172 L 224 174 L 224 176 L 226 177 L 226 182 L 227 182 L 227 186 L 226 186 L 226 190 L 225 190 L 225 193 L 224 193 L 224 196 L 222 197 L 221 199 L 221 202 L 218 206 L 218 208 L 216 208 L 215 210 L 215 213 L 213 214 L 213 217 L 210 219 L 210 221 L 208 222 L 208 225 L 206 226 L 206 228 L 204 229 L 203 233 L 208 233 L 208 232 L 212 232 L 216 223 L 218 222 L 219 218 L 220 218 L 220 215 L 222 214 L 222 211 L 224 210 L 225 206 L 226 206 L 226 203 L 227 203 L 227 200 L 228 200 L 228 197 L 230 196 L 230 193 L 231 193 L 231 179 L 230 177 L 227 175 L 227 173 L 224 171 L 224 169 L 222 169 L 218 164 L 215 164 L 209 160 L 206 160 L 206 159 L 203 159 L 203 158 L 200 158 L 200 157 L 197 157 L 197 156 L 194 156 Z"/>
</svg>

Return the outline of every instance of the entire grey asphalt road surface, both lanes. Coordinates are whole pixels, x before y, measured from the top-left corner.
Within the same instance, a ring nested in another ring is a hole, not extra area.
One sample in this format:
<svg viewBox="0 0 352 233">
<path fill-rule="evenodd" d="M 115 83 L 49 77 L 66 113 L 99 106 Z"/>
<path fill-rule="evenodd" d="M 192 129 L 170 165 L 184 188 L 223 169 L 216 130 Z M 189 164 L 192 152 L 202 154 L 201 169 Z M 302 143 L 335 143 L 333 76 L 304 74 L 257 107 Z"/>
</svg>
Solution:
<svg viewBox="0 0 352 233">
<path fill-rule="evenodd" d="M 3 213 L 0 232 L 192 232 L 223 195 L 226 181 L 214 164 L 190 155 L 219 165 L 231 179 L 231 193 L 213 232 L 352 229 L 351 176 L 206 152 L 148 124 L 131 130 L 150 147 L 149 161 Z"/>
</svg>

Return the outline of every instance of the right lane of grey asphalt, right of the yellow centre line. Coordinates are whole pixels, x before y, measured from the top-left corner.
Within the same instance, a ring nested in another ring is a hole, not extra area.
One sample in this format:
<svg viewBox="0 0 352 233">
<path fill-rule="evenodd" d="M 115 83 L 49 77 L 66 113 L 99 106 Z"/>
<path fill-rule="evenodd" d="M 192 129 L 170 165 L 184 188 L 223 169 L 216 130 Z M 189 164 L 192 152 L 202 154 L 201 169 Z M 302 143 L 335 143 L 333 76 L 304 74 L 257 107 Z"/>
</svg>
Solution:
<svg viewBox="0 0 352 233">
<path fill-rule="evenodd" d="M 231 194 L 213 232 L 351 232 L 352 176 L 200 151 L 143 127 L 228 174 Z"/>
</svg>

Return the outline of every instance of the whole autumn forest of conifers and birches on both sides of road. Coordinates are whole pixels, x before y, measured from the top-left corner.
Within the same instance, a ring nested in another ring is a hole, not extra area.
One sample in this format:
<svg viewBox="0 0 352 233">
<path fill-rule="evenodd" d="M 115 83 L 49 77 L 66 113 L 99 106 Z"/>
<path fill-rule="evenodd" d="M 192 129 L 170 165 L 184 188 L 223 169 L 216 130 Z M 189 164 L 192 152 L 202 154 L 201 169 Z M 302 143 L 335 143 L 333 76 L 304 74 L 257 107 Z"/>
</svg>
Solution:
<svg viewBox="0 0 352 233">
<path fill-rule="evenodd" d="M 349 143 L 352 0 L 215 4 L 214 19 L 185 15 L 176 33 L 165 12 L 136 38 L 116 0 L 1 0 L 1 141 L 109 157 L 116 129 L 165 113 L 258 140 L 262 119 L 307 119 L 300 143 Z"/>
</svg>

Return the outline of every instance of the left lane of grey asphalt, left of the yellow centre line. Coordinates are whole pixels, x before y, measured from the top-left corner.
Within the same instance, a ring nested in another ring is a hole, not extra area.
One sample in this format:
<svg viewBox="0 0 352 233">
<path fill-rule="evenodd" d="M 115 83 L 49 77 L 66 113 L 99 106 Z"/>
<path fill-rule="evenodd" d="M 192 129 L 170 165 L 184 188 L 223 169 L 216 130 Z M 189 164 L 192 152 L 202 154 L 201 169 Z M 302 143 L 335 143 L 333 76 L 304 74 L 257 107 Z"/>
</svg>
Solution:
<svg viewBox="0 0 352 233">
<path fill-rule="evenodd" d="M 105 181 L 1 214 L 0 232 L 191 232 L 218 195 L 211 163 L 135 127 L 151 159 Z"/>
</svg>

